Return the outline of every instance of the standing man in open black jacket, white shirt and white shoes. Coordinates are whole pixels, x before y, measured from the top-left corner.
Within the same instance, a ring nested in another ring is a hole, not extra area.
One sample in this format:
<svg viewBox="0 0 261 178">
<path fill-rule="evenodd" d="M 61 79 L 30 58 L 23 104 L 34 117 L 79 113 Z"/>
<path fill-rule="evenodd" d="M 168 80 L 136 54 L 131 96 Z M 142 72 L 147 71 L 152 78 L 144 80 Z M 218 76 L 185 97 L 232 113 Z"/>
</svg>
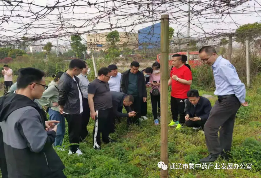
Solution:
<svg viewBox="0 0 261 178">
<path fill-rule="evenodd" d="M 83 95 L 79 86 L 79 78 L 76 77 L 85 68 L 85 63 L 80 59 L 73 59 L 69 69 L 64 72 L 58 83 L 58 104 L 61 114 L 64 114 L 68 122 L 68 134 L 70 144 L 80 143 L 82 123 Z M 70 146 L 70 154 L 82 155 L 79 145 Z"/>
</svg>

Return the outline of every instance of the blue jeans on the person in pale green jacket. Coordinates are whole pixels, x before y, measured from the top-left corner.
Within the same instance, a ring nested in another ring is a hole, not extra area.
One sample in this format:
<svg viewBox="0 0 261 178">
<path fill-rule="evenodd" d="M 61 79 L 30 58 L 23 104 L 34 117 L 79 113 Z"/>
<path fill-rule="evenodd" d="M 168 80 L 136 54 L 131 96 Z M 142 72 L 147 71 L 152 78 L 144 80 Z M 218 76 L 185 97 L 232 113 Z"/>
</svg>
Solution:
<svg viewBox="0 0 261 178">
<path fill-rule="evenodd" d="M 63 143 L 64 135 L 65 135 L 65 119 L 64 116 L 61 115 L 58 111 L 52 110 L 49 108 L 49 120 L 60 121 L 60 124 L 57 126 L 57 132 L 55 136 L 55 142 L 53 146 L 61 146 Z"/>
</svg>

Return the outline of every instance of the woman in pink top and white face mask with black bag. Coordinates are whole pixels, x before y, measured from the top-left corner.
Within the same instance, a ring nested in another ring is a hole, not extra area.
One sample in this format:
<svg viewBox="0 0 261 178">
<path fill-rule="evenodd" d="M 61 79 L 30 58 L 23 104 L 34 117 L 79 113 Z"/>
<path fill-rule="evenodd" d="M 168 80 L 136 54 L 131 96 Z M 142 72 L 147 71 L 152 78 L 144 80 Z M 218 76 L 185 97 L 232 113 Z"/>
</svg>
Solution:
<svg viewBox="0 0 261 178">
<path fill-rule="evenodd" d="M 152 64 L 153 73 L 150 76 L 151 82 L 151 105 L 155 125 L 159 125 L 160 119 L 160 63 L 155 62 Z M 158 108 L 158 110 L 157 110 Z"/>
</svg>

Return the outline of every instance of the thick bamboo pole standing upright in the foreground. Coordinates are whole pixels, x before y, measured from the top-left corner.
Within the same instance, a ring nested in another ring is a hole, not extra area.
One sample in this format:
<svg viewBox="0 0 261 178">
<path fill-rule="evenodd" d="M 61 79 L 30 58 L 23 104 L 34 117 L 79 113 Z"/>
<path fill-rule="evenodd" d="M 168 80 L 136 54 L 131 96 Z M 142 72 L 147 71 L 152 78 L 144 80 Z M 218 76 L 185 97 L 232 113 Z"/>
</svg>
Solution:
<svg viewBox="0 0 261 178">
<path fill-rule="evenodd" d="M 168 15 L 161 15 L 160 22 L 160 159 L 168 167 Z M 160 177 L 168 177 L 168 169 L 160 171 Z"/>
</svg>

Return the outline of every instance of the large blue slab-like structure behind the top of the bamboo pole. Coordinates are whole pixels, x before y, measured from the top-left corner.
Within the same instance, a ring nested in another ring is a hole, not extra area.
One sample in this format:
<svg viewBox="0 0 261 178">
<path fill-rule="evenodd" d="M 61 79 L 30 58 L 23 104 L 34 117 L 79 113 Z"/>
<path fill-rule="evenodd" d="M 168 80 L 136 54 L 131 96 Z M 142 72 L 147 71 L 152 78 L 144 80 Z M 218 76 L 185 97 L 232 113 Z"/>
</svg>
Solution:
<svg viewBox="0 0 261 178">
<path fill-rule="evenodd" d="M 160 23 L 138 30 L 139 49 L 160 48 Z"/>
</svg>

